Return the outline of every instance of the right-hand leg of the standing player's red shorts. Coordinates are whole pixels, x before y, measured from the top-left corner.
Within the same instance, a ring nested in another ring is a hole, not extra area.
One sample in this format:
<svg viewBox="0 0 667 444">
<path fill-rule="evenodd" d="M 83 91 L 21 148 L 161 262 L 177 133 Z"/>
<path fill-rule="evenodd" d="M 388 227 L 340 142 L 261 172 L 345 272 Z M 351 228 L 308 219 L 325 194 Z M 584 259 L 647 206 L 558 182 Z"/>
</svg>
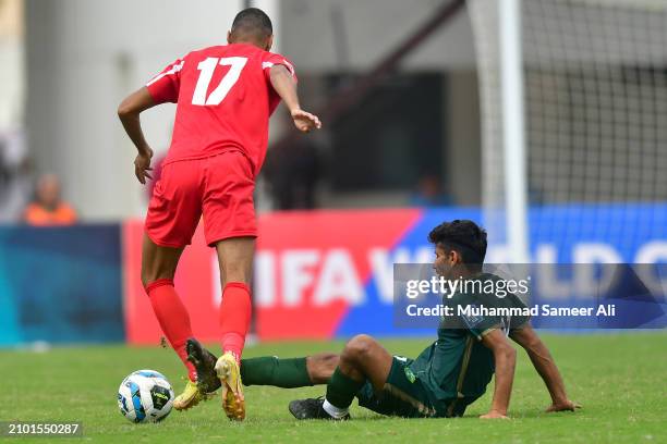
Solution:
<svg viewBox="0 0 667 444">
<path fill-rule="evenodd" d="M 257 236 L 254 192 L 252 164 L 241 152 L 229 151 L 206 159 L 202 209 L 209 246 L 230 238 Z M 241 248 L 246 248 L 244 245 Z M 230 248 L 234 247 L 232 244 Z"/>
</svg>

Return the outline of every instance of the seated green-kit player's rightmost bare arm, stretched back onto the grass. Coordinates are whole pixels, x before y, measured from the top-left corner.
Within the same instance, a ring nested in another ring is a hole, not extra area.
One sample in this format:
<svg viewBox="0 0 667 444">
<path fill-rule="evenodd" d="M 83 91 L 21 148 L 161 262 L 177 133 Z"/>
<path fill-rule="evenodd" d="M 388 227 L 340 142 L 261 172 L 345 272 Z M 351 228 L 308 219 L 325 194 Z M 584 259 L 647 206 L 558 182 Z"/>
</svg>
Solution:
<svg viewBox="0 0 667 444">
<path fill-rule="evenodd" d="M 535 330 L 531 325 L 526 325 L 522 329 L 512 330 L 510 337 L 527 353 L 533 367 L 549 391 L 551 405 L 547 407 L 546 411 L 574 411 L 577 408 L 581 408 L 581 405 L 568 398 L 556 361 Z"/>
</svg>

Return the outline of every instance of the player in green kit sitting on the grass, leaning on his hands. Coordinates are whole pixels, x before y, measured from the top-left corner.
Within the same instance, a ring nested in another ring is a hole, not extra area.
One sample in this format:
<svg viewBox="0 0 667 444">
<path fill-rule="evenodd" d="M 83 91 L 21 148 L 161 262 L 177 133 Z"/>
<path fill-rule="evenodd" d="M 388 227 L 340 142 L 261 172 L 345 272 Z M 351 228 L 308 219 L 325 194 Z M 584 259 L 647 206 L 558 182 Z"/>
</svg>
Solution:
<svg viewBox="0 0 667 444">
<path fill-rule="evenodd" d="M 446 279 L 499 280 L 482 272 L 486 232 L 472 221 L 456 220 L 436 226 L 428 235 L 435 245 L 436 273 Z M 514 295 L 456 294 L 450 305 L 484 304 L 518 307 Z M 507 418 L 517 353 L 508 336 L 527 353 L 551 396 L 547 411 L 574 410 L 562 378 L 547 347 L 526 317 L 468 317 L 442 322 L 438 340 L 414 360 L 391 356 L 368 335 L 354 336 L 338 355 L 307 358 L 251 358 L 242 361 L 242 380 L 252 385 L 295 387 L 327 383 L 325 398 L 290 403 L 298 419 L 350 419 L 354 397 L 359 405 L 387 416 L 405 418 L 460 417 L 482 396 L 492 377 L 496 383 L 492 406 L 481 418 Z M 197 370 L 207 373 L 207 351 L 189 343 Z M 214 379 L 215 380 L 215 379 Z M 203 374 L 202 381 L 206 381 Z M 204 387 L 210 392 L 214 387 Z"/>
</svg>

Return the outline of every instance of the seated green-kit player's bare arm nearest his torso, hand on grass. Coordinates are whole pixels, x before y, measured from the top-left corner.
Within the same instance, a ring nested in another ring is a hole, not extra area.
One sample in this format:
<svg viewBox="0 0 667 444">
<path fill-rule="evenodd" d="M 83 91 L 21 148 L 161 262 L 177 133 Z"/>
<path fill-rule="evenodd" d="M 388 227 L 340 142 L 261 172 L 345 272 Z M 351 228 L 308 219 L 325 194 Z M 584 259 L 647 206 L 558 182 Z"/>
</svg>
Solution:
<svg viewBox="0 0 667 444">
<path fill-rule="evenodd" d="M 504 418 L 507 419 L 512 383 L 514 381 L 514 367 L 517 366 L 517 350 L 507 341 L 500 330 L 492 330 L 482 338 L 482 344 L 494 353 L 496 363 L 496 387 L 492 408 L 486 415 L 480 418 Z"/>
</svg>

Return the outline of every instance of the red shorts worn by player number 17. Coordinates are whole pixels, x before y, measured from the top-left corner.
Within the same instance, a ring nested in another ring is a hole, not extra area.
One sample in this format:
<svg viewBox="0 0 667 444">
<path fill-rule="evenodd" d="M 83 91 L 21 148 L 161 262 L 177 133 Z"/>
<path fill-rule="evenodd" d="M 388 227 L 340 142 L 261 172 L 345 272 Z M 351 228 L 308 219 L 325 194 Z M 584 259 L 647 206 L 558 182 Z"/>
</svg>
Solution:
<svg viewBox="0 0 667 444">
<path fill-rule="evenodd" d="M 256 236 L 250 160 L 240 151 L 180 160 L 162 168 L 148 205 L 145 231 L 162 247 L 184 247 L 204 214 L 206 243 Z"/>
</svg>

